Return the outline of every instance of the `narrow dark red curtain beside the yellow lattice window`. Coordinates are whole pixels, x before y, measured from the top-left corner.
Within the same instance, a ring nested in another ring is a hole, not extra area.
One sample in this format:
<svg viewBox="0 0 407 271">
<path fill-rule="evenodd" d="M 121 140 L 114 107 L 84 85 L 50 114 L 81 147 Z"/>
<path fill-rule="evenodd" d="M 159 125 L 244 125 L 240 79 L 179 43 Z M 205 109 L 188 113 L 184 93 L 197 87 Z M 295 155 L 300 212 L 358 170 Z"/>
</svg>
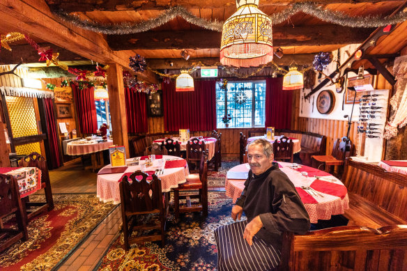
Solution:
<svg viewBox="0 0 407 271">
<path fill-rule="evenodd" d="M 48 161 L 51 161 L 52 169 L 56 169 L 62 166 L 58 147 L 58 128 L 56 127 L 56 121 L 54 116 L 54 103 L 52 98 L 44 98 L 45 118 L 47 118 L 47 130 L 48 130 L 48 144 L 49 155 Z"/>
</svg>

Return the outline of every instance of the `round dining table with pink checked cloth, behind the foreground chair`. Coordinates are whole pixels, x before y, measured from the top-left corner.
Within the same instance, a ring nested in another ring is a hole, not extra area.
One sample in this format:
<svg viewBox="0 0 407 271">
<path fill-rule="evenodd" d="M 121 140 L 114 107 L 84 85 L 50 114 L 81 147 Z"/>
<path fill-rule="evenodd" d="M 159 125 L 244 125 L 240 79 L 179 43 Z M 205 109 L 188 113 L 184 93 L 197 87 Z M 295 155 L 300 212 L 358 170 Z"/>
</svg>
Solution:
<svg viewBox="0 0 407 271">
<path fill-rule="evenodd" d="M 123 176 L 130 176 L 137 170 L 142 170 L 149 176 L 157 172 L 157 176 L 161 180 L 162 192 L 169 192 L 172 188 L 185 183 L 190 174 L 187 161 L 181 157 L 155 155 L 155 160 L 151 165 L 145 164 L 146 159 L 148 156 L 129 158 L 126 160 L 127 166 L 121 167 L 123 170 L 118 173 L 109 173 L 115 170 L 110 164 L 100 169 L 97 180 L 97 196 L 100 201 L 120 203 L 119 184 Z"/>
</svg>

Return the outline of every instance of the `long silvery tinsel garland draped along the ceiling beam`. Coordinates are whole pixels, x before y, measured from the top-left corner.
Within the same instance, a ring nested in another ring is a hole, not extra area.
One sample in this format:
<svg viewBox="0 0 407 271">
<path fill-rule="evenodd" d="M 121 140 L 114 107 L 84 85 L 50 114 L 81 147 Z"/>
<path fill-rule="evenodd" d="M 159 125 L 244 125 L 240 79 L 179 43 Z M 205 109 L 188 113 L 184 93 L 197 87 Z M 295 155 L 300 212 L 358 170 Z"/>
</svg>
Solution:
<svg viewBox="0 0 407 271">
<path fill-rule="evenodd" d="M 223 22 L 206 20 L 197 17 L 190 13 L 183 6 L 171 7 L 164 11 L 158 17 L 150 20 L 146 20 L 141 23 L 130 23 L 126 22 L 123 24 L 100 24 L 98 22 L 90 22 L 89 20 L 82 20 L 77 15 L 70 15 L 64 10 L 52 10 L 52 12 L 59 16 L 61 20 L 74 24 L 75 26 L 81 27 L 83 29 L 88 29 L 98 33 L 105 33 L 109 35 L 123 35 L 131 33 L 141 33 L 158 26 L 162 26 L 167 22 L 173 20 L 175 17 L 182 17 L 187 22 L 191 24 L 203 27 L 204 29 L 210 29 L 213 31 L 222 32 Z M 364 16 L 364 17 L 353 17 L 351 15 L 346 15 L 345 13 L 339 11 L 332 11 L 323 8 L 323 6 L 318 6 L 316 3 L 293 3 L 291 7 L 286 8 L 281 13 L 275 13 L 270 15 L 272 24 L 281 24 L 282 22 L 288 20 L 290 17 L 295 15 L 295 13 L 306 13 L 313 17 L 318 18 L 324 22 L 331 22 L 332 24 L 339 24 L 341 26 L 351 26 L 351 27 L 378 27 L 387 26 L 388 24 L 397 24 L 399 22 L 404 22 L 407 20 L 407 11 L 400 10 L 394 15 L 389 15 L 386 17 L 378 16 Z"/>
</svg>

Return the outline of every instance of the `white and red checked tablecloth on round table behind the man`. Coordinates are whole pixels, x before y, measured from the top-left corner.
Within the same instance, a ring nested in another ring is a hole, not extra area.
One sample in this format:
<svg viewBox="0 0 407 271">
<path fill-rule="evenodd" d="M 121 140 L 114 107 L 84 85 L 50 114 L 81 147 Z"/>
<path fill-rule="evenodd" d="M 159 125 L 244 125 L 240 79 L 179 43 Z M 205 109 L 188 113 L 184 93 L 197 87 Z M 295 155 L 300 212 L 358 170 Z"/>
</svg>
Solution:
<svg viewBox="0 0 407 271">
<path fill-rule="evenodd" d="M 289 176 L 289 179 L 295 187 L 301 187 L 302 185 L 309 186 L 312 185 L 314 180 L 316 180 L 314 176 L 311 176 L 311 174 L 309 177 L 302 176 L 301 168 L 299 168 L 298 170 L 291 169 L 291 163 L 279 162 L 279 164 L 282 165 L 282 168 L 280 169 L 284 171 L 287 176 Z M 233 167 L 229 171 L 248 172 L 249 167 L 248 164 L 240 164 L 236 167 Z M 315 171 L 315 169 L 313 169 L 312 172 L 318 173 L 318 171 Z M 344 185 L 334 176 L 326 176 L 325 171 L 321 171 L 321 175 L 317 176 L 323 176 L 323 174 L 325 174 L 324 180 L 327 182 L 327 187 L 330 184 Z M 245 180 L 228 180 L 226 175 L 226 196 L 231 197 L 233 199 L 233 203 L 236 202 L 243 189 L 245 188 L 244 183 Z M 344 189 L 344 191 L 346 191 L 346 189 Z M 347 192 L 344 192 L 344 194 L 338 196 L 326 194 L 321 190 L 319 190 L 318 192 L 322 194 L 323 197 L 313 196 L 316 203 L 307 203 L 303 200 L 311 223 L 317 223 L 318 219 L 330 219 L 332 215 L 343 214 L 345 210 L 349 208 L 349 198 Z"/>
</svg>

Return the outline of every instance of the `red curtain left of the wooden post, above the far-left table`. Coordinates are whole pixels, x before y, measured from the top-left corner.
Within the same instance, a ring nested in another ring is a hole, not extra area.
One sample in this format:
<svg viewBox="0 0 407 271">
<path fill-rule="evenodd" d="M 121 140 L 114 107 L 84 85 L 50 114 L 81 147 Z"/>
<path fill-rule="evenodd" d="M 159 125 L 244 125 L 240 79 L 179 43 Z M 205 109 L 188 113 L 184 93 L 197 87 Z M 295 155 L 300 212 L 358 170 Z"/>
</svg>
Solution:
<svg viewBox="0 0 407 271">
<path fill-rule="evenodd" d="M 93 87 L 80 90 L 79 86 L 73 82 L 70 87 L 75 96 L 79 128 L 82 134 L 95 134 L 98 130 L 98 119 Z"/>
</svg>

